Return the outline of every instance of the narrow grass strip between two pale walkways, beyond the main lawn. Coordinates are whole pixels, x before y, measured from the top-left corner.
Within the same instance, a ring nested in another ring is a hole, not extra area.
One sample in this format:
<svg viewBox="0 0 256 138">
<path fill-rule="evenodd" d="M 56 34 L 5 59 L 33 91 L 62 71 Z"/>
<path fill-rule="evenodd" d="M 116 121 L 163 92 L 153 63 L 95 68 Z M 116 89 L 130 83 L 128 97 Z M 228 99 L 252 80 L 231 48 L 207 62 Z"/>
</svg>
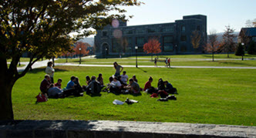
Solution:
<svg viewBox="0 0 256 138">
<path fill-rule="evenodd" d="M 158 66 L 165 66 L 164 59 L 159 59 Z M 171 59 L 171 66 L 256 66 L 256 60 L 220 60 L 214 61 L 205 59 Z M 58 59 L 56 62 L 66 62 L 66 59 Z M 68 59 L 68 62 L 78 64 L 79 59 Z M 123 58 L 123 59 L 82 59 L 82 64 L 95 64 L 95 65 L 113 65 L 113 62 L 118 62 L 120 65 L 135 65 L 136 59 Z M 140 57 L 138 59 L 139 66 L 154 66 L 150 58 L 145 59 Z"/>
</svg>

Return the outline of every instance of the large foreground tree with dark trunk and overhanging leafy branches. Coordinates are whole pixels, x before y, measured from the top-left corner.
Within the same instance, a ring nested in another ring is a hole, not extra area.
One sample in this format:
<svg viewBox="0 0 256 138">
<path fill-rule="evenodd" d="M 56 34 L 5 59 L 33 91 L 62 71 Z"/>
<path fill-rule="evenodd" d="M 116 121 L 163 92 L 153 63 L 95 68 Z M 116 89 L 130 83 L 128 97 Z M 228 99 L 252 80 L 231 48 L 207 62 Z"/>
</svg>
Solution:
<svg viewBox="0 0 256 138">
<path fill-rule="evenodd" d="M 126 19 L 123 6 L 140 5 L 137 0 L 1 0 L 0 1 L 0 87 L 5 114 L 0 119 L 13 119 L 12 86 L 42 57 L 61 55 L 89 29 L 102 29 L 113 19 Z M 116 15 L 109 12 L 116 11 Z M 71 32 L 78 32 L 70 37 Z M 23 53 L 30 61 L 23 72 L 17 64 Z M 10 66 L 7 59 L 12 59 Z M 8 96 L 8 97 L 7 97 Z"/>
</svg>

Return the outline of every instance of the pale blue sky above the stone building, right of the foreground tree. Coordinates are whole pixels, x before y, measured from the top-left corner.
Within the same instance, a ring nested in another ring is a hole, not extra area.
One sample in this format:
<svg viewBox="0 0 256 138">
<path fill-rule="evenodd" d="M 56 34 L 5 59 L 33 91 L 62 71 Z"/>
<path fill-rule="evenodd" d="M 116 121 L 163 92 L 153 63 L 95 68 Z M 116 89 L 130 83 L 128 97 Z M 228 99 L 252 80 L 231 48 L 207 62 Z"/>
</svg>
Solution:
<svg viewBox="0 0 256 138">
<path fill-rule="evenodd" d="M 127 25 L 174 22 L 183 15 L 207 15 L 207 32 L 224 32 L 231 25 L 235 32 L 248 19 L 256 19 L 256 0 L 140 0 L 145 5 L 127 7 L 133 15 Z"/>
</svg>

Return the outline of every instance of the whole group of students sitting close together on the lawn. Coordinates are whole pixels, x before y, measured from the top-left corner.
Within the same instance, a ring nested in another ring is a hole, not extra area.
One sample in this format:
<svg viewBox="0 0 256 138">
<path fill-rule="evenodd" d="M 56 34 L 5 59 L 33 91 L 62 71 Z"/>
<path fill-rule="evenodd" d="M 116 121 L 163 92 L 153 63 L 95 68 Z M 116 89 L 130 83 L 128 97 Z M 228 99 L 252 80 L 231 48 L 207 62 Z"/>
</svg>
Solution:
<svg viewBox="0 0 256 138">
<path fill-rule="evenodd" d="M 103 75 L 99 73 L 99 76 L 86 76 L 85 86 L 81 86 L 79 79 L 76 76 L 71 76 L 67 86 L 62 89 L 62 79 L 58 79 L 55 84 L 51 83 L 51 78 L 49 75 L 45 75 L 45 79 L 42 80 L 40 85 L 40 90 L 43 94 L 46 93 L 49 98 L 64 98 L 66 96 L 83 96 L 83 93 L 93 95 L 99 94 L 100 92 L 115 93 L 115 94 L 125 94 L 133 93 L 138 94 L 140 91 L 145 91 L 152 94 L 151 97 L 157 97 L 160 95 L 161 98 L 167 97 L 169 94 L 177 93 L 177 89 L 168 81 L 163 81 L 163 79 L 158 80 L 157 88 L 151 86 L 153 78 L 150 76 L 149 80 L 145 83 L 144 88 L 140 88 L 136 76 L 131 79 L 126 75 L 126 71 L 120 76 L 110 76 L 109 83 L 104 86 Z"/>
</svg>

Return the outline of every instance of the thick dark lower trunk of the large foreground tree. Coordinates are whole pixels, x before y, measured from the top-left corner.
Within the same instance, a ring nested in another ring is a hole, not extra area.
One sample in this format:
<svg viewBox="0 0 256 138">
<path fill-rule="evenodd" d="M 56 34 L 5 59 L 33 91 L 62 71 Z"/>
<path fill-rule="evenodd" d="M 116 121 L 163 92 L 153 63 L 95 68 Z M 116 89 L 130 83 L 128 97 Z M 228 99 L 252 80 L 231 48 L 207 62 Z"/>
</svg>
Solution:
<svg viewBox="0 0 256 138">
<path fill-rule="evenodd" d="M 0 88 L 0 120 L 14 119 L 12 111 L 12 84 L 7 84 L 6 80 L 1 78 Z"/>
</svg>

